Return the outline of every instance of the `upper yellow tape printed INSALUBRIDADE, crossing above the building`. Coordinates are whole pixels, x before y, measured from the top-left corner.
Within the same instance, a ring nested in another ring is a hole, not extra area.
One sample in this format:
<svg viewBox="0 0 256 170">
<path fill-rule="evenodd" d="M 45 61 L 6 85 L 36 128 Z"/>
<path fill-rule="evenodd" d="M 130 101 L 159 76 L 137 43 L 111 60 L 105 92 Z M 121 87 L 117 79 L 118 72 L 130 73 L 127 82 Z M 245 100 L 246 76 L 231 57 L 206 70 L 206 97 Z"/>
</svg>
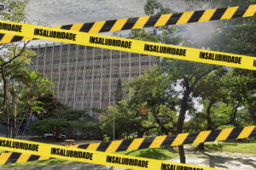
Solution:
<svg viewBox="0 0 256 170">
<path fill-rule="evenodd" d="M 16 36 L 256 70 L 256 59 L 247 55 L 228 54 L 85 32 L 62 31 L 46 26 L 20 24 L 3 20 L 0 20 L 0 33 L 12 33 Z M 0 43 L 3 43 L 2 40 Z"/>
</svg>

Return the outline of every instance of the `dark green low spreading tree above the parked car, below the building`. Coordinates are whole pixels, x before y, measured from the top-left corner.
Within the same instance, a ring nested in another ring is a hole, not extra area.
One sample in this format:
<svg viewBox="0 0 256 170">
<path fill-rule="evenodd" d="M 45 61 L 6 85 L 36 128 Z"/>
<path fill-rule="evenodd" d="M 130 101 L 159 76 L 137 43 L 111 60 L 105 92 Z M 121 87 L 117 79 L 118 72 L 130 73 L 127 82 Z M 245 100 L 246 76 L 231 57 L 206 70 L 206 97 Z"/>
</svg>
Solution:
<svg viewBox="0 0 256 170">
<path fill-rule="evenodd" d="M 44 133 L 64 133 L 70 137 L 77 137 L 80 133 L 83 139 L 102 137 L 99 124 L 94 122 L 95 118 L 91 117 L 87 111 L 63 111 L 61 114 L 52 115 L 48 118 L 34 122 L 30 127 L 33 134 L 41 136 Z M 90 131 L 91 130 L 91 131 Z"/>
</svg>

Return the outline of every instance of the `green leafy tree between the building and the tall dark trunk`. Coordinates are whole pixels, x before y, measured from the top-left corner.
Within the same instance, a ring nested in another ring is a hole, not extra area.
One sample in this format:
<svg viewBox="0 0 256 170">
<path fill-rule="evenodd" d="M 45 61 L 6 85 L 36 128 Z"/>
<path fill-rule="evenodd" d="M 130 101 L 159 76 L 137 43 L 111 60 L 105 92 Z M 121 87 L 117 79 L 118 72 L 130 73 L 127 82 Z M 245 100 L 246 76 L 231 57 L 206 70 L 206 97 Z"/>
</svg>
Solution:
<svg viewBox="0 0 256 170">
<path fill-rule="evenodd" d="M 161 74 L 155 65 L 150 71 L 145 71 L 142 77 L 129 84 L 131 88 L 131 100 L 129 104 L 135 110 L 139 108 L 143 114 L 154 117 L 154 122 L 160 127 L 160 131 L 168 135 L 174 133 L 177 123 L 177 110 L 175 90 L 169 78 Z"/>
</svg>

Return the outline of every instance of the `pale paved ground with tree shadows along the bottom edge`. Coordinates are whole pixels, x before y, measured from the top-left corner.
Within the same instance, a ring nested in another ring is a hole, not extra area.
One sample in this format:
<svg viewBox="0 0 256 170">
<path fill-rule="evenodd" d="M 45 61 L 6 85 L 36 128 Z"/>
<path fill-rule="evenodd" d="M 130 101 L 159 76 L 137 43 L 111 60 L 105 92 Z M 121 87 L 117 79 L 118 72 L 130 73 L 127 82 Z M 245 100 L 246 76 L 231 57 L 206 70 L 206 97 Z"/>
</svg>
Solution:
<svg viewBox="0 0 256 170">
<path fill-rule="evenodd" d="M 230 152 L 187 152 L 187 163 L 194 165 L 201 165 L 206 167 L 218 167 L 222 169 L 256 169 L 256 155 L 241 154 Z M 168 161 L 176 161 L 175 158 Z M 85 163 L 78 164 L 65 164 L 65 165 L 51 165 L 51 166 L 38 166 L 38 167 L 1 167 L 0 170 L 124 170 L 119 167 L 106 167 L 99 165 L 91 165 Z"/>
</svg>

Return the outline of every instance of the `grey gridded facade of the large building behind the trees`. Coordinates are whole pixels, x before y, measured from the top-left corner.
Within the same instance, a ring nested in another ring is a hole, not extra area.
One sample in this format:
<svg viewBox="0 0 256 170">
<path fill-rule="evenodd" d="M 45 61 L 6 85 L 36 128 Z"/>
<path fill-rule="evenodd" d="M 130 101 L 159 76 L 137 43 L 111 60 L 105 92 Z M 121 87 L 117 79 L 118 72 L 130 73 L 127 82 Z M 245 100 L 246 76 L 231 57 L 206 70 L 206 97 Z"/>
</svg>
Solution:
<svg viewBox="0 0 256 170">
<path fill-rule="evenodd" d="M 56 42 L 29 48 L 37 53 L 30 70 L 54 82 L 60 102 L 90 114 L 91 108 L 107 110 L 114 104 L 119 77 L 122 83 L 131 82 L 158 62 L 157 57 L 144 54 Z M 129 99 L 125 93 L 124 97 Z"/>
</svg>

